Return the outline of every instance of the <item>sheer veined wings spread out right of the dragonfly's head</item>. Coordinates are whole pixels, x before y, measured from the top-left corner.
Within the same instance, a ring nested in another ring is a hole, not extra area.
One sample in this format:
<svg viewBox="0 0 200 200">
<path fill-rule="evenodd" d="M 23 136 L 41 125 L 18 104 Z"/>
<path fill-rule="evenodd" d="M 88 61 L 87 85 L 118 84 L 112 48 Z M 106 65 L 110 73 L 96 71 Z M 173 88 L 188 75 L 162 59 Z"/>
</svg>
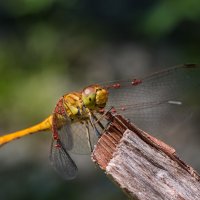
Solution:
<svg viewBox="0 0 200 200">
<path fill-rule="evenodd" d="M 147 132 L 166 134 L 190 118 L 199 104 L 200 67 L 177 66 L 143 79 L 113 82 L 105 87 L 109 88 L 107 108 L 114 106 Z"/>
</svg>

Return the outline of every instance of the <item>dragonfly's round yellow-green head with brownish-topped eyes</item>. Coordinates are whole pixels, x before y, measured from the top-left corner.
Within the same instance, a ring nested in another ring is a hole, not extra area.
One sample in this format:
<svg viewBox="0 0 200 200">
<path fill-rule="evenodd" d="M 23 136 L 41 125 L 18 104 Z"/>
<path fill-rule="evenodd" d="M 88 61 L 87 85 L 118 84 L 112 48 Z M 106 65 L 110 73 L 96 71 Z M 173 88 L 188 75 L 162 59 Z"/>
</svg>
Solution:
<svg viewBox="0 0 200 200">
<path fill-rule="evenodd" d="M 89 109 L 104 108 L 108 101 L 108 91 L 99 85 L 91 85 L 82 91 L 83 104 Z"/>
</svg>

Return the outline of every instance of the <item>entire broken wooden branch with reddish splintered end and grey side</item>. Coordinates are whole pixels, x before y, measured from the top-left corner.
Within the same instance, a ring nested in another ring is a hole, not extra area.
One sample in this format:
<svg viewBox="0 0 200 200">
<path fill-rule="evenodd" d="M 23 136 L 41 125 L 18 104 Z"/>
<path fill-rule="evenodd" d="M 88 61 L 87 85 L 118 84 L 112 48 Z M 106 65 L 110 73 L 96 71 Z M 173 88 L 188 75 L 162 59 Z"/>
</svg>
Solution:
<svg viewBox="0 0 200 200">
<path fill-rule="evenodd" d="M 109 118 L 92 159 L 131 199 L 200 199 L 200 176 L 173 148 L 120 115 Z"/>
</svg>

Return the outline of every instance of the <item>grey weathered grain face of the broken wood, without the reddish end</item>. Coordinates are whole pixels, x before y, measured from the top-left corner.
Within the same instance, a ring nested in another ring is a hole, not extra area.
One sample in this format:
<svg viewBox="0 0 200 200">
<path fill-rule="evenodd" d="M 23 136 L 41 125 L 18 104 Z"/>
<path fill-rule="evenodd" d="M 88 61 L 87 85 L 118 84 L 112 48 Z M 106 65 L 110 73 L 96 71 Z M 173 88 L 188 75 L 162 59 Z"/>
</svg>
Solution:
<svg viewBox="0 0 200 200">
<path fill-rule="evenodd" d="M 132 198 L 199 200 L 200 182 L 166 154 L 127 130 L 106 173 Z"/>
</svg>

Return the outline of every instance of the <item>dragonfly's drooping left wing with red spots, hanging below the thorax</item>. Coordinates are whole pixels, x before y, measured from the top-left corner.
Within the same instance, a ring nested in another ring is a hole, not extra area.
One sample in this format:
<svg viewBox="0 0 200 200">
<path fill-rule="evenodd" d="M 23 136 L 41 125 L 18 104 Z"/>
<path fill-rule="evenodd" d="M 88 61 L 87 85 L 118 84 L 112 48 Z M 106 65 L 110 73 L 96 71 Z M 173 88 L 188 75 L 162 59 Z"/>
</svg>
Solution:
<svg viewBox="0 0 200 200">
<path fill-rule="evenodd" d="M 68 154 L 73 148 L 73 137 L 70 119 L 65 114 L 63 98 L 54 110 L 52 119 L 53 138 L 50 151 L 50 161 L 54 169 L 64 179 L 73 179 L 77 175 L 77 166 Z"/>
</svg>

